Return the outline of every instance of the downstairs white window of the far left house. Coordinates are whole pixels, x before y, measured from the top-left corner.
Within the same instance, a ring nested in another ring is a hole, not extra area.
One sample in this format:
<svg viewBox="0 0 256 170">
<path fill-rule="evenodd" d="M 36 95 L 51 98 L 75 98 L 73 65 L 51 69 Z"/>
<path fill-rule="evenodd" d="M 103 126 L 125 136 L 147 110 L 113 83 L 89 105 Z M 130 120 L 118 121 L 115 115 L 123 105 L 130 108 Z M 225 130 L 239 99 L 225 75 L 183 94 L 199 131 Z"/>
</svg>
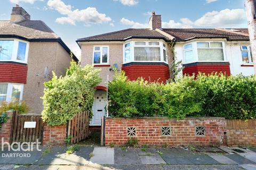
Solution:
<svg viewBox="0 0 256 170">
<path fill-rule="evenodd" d="M 20 101 L 23 95 L 23 84 L 0 83 L 0 103 L 2 101 Z"/>
</svg>

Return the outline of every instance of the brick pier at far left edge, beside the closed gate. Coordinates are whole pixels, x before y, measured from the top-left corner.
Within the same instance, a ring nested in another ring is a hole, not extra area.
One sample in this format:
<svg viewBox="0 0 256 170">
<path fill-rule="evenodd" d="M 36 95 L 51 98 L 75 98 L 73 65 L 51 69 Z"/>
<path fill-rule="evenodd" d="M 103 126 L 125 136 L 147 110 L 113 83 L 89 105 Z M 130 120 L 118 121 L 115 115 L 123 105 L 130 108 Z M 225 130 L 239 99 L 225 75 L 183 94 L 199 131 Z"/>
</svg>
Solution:
<svg viewBox="0 0 256 170">
<path fill-rule="evenodd" d="M 13 112 L 7 112 L 7 115 L 9 119 L 6 123 L 2 124 L 2 128 L 0 129 L 0 144 L 2 143 L 2 138 L 4 138 L 4 142 L 10 142 Z"/>
</svg>

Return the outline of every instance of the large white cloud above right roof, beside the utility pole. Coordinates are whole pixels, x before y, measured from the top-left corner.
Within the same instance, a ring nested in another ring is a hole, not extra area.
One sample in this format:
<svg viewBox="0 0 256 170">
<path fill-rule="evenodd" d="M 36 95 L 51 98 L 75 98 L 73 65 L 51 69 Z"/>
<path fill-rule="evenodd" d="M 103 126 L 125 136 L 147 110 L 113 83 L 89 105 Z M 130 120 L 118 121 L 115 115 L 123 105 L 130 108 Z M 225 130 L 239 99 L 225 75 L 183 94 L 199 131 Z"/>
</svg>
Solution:
<svg viewBox="0 0 256 170">
<path fill-rule="evenodd" d="M 246 22 L 246 15 L 243 9 L 226 9 L 205 13 L 194 24 L 199 27 L 237 27 Z"/>
</svg>

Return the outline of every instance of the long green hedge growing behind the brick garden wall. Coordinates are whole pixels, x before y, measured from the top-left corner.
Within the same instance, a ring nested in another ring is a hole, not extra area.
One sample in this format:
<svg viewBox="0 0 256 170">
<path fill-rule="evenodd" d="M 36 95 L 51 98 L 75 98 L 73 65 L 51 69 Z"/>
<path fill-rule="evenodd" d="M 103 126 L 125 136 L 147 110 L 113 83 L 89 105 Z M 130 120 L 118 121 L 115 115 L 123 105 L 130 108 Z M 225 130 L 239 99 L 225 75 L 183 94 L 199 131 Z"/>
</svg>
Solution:
<svg viewBox="0 0 256 170">
<path fill-rule="evenodd" d="M 124 72 L 109 83 L 109 113 L 113 117 L 222 116 L 256 117 L 254 77 L 225 75 L 185 76 L 166 84 L 143 79 L 128 81 Z"/>
</svg>

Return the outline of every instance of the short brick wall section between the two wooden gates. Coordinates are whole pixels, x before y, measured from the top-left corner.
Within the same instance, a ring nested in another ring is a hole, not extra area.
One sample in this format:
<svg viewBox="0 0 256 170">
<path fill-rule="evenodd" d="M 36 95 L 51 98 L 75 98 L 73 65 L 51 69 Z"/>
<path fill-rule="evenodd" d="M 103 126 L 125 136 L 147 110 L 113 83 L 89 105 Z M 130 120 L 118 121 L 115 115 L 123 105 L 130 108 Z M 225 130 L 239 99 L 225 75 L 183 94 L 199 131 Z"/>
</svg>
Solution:
<svg viewBox="0 0 256 170">
<path fill-rule="evenodd" d="M 48 126 L 44 124 L 43 145 L 65 145 L 67 126 Z"/>
</svg>

